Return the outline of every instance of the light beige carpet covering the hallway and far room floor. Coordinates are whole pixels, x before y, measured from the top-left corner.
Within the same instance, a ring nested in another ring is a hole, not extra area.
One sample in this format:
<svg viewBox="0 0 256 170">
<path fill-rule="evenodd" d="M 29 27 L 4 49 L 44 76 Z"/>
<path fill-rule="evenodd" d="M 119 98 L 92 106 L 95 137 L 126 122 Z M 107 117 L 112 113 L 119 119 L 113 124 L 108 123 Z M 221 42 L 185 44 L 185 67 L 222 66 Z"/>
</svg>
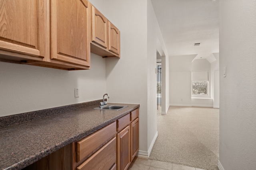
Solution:
<svg viewBox="0 0 256 170">
<path fill-rule="evenodd" d="M 218 170 L 219 109 L 170 106 L 167 115 L 157 114 L 150 159 Z"/>
</svg>

